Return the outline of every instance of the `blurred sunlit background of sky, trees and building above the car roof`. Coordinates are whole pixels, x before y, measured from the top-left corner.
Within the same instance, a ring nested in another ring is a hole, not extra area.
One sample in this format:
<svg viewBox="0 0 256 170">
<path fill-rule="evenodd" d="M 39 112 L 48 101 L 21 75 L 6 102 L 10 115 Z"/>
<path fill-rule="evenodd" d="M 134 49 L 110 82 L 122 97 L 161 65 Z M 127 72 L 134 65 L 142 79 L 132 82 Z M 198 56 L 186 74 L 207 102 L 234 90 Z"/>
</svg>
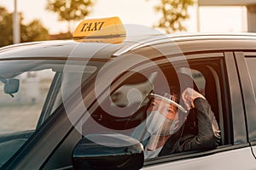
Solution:
<svg viewBox="0 0 256 170">
<path fill-rule="evenodd" d="M 256 0 L 1 0 L 0 47 L 70 39 L 80 20 L 119 16 L 166 33 L 256 31 Z"/>
</svg>

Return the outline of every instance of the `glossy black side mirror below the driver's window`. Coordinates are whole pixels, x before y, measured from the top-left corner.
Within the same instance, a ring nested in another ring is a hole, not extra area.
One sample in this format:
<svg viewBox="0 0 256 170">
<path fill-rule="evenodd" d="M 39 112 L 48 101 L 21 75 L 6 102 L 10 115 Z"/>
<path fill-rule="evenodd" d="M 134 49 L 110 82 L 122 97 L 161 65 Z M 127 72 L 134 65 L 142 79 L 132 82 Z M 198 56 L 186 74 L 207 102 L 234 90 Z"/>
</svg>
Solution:
<svg viewBox="0 0 256 170">
<path fill-rule="evenodd" d="M 143 144 L 123 134 L 90 134 L 79 140 L 72 161 L 74 169 L 140 169 Z"/>
</svg>

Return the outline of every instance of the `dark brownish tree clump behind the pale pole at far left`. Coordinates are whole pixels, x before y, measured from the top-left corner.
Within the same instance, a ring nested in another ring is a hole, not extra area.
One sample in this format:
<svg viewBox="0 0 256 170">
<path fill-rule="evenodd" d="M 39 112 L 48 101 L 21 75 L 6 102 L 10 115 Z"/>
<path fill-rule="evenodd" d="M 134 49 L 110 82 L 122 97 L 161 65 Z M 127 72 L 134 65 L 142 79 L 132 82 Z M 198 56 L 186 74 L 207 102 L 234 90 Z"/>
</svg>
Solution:
<svg viewBox="0 0 256 170">
<path fill-rule="evenodd" d="M 3 7 L 0 7 L 0 14 L 0 47 L 3 47 L 13 43 L 13 14 Z M 32 20 L 25 25 L 20 13 L 20 42 L 42 41 L 48 38 L 48 30 L 40 20 Z"/>
</svg>

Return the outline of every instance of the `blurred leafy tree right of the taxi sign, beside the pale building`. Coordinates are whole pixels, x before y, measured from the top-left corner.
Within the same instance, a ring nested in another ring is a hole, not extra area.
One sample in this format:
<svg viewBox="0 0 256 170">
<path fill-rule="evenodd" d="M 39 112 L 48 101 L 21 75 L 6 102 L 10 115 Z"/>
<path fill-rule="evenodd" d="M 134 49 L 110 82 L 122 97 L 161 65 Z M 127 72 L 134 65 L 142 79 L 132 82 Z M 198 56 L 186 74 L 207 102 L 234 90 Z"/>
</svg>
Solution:
<svg viewBox="0 0 256 170">
<path fill-rule="evenodd" d="M 186 31 L 183 21 L 189 19 L 188 8 L 194 0 L 160 0 L 154 7 L 162 16 L 156 27 L 162 28 L 166 33 Z"/>
</svg>

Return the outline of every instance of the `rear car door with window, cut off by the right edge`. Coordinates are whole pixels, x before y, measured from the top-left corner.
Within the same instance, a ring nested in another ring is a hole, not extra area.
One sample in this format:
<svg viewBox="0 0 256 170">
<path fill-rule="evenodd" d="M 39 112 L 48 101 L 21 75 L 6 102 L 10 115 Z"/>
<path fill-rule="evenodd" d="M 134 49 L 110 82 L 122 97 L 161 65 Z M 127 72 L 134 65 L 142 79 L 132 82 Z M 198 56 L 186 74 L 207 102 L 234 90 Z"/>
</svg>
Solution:
<svg viewBox="0 0 256 170">
<path fill-rule="evenodd" d="M 236 63 L 241 79 L 242 97 L 247 116 L 247 131 L 249 142 L 256 155 L 256 53 L 236 52 Z"/>
</svg>

